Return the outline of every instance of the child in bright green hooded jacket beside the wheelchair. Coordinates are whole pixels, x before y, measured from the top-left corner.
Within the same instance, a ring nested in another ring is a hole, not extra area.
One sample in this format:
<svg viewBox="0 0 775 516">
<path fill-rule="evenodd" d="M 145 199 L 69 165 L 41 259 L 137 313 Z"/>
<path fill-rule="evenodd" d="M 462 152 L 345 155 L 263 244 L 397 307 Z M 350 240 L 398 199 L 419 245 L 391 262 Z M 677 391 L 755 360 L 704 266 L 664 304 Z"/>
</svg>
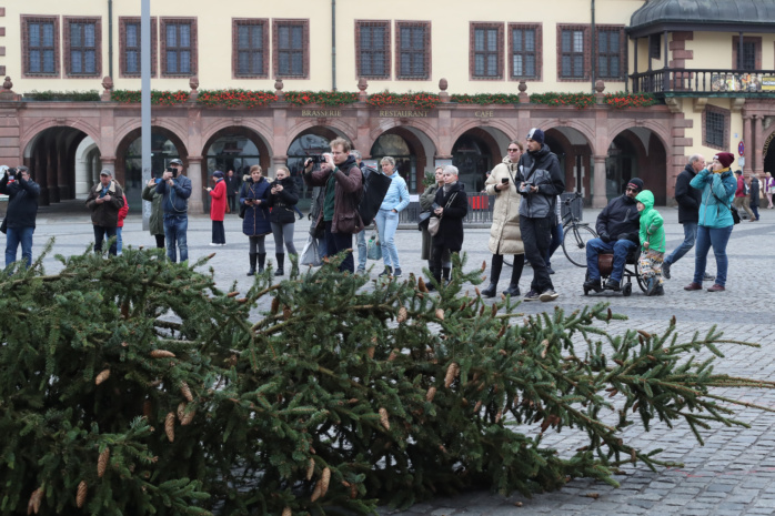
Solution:
<svg viewBox="0 0 775 516">
<path fill-rule="evenodd" d="M 654 209 L 654 194 L 644 190 L 635 196 L 641 212 L 641 275 L 646 281 L 646 295 L 664 295 L 662 263 L 665 260 L 665 221 Z"/>
</svg>

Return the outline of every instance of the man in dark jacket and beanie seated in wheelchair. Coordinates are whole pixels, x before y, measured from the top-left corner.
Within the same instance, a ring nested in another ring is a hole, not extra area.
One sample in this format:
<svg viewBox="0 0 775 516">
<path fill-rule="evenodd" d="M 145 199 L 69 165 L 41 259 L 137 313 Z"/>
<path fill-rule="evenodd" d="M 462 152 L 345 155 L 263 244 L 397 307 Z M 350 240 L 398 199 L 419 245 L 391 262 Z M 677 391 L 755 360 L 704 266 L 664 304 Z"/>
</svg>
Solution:
<svg viewBox="0 0 775 516">
<path fill-rule="evenodd" d="M 595 230 L 600 237 L 586 243 L 586 281 L 585 291 L 601 292 L 603 287 L 620 291 L 622 275 L 626 265 L 627 255 L 641 245 L 638 233 L 641 231 L 641 213 L 637 211 L 635 195 L 643 190 L 643 181 L 633 178 L 627 183 L 624 194 L 612 199 L 607 206 L 597 215 Z M 614 263 L 611 276 L 601 285 L 600 254 L 613 254 Z"/>
</svg>

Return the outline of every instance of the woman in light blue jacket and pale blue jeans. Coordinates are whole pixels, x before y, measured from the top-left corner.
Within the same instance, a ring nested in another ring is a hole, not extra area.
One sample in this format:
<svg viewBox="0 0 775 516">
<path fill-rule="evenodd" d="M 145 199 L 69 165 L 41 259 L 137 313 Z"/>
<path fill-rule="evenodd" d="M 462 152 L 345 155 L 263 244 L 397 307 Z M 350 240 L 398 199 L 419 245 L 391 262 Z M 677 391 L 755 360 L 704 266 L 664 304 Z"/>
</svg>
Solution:
<svg viewBox="0 0 775 516">
<path fill-rule="evenodd" d="M 385 270 L 380 276 L 401 277 L 401 263 L 399 262 L 399 251 L 395 249 L 395 230 L 399 229 L 399 213 L 409 206 L 409 190 L 406 181 L 395 173 L 395 160 L 389 155 L 380 161 L 382 172 L 391 179 L 390 186 L 382 200 L 380 211 L 374 217 L 376 231 L 380 234 L 382 247 L 382 260 Z"/>
</svg>

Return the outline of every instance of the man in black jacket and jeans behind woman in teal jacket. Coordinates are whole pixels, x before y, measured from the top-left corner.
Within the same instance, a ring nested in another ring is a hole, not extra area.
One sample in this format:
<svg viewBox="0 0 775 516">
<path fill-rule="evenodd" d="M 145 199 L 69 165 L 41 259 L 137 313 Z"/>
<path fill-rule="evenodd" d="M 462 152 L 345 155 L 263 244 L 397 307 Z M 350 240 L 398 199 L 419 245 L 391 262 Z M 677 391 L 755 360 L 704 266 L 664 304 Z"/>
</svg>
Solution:
<svg viewBox="0 0 775 516">
<path fill-rule="evenodd" d="M 690 182 L 705 168 L 705 158 L 694 154 L 675 180 L 675 200 L 678 202 L 678 222 L 684 226 L 684 241 L 662 263 L 662 275 L 670 280 L 670 267 L 694 247 L 697 239 L 697 222 L 699 221 L 699 203 L 702 190 L 690 186 Z M 714 280 L 712 274 L 705 274 L 705 280 Z"/>
</svg>

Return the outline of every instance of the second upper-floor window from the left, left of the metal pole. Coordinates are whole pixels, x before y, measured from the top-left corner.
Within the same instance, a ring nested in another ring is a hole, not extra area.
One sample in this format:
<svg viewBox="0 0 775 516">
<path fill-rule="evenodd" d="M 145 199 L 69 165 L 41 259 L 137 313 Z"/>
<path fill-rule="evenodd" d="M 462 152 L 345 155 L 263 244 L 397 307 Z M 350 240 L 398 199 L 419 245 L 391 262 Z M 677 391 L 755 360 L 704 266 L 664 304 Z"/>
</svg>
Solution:
<svg viewBox="0 0 775 516">
<path fill-rule="evenodd" d="M 70 77 L 99 77 L 102 59 L 99 18 L 64 19 L 64 70 Z"/>
</svg>

